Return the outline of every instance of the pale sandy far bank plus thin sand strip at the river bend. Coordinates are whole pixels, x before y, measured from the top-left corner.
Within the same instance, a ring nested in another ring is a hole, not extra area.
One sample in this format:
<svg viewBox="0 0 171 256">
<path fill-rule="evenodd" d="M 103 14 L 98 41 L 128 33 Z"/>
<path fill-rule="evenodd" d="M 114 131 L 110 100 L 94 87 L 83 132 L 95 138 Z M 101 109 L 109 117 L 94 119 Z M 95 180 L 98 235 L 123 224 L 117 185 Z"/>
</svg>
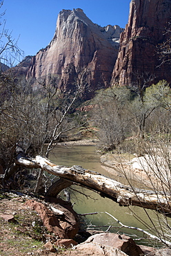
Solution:
<svg viewBox="0 0 171 256">
<path fill-rule="evenodd" d="M 97 139 L 82 139 L 68 141 L 66 143 L 59 143 L 59 145 L 65 145 L 66 147 L 97 147 L 98 143 L 99 140 Z M 159 180 L 152 170 L 153 168 L 157 169 L 157 165 L 161 165 L 161 163 L 156 163 L 156 156 L 154 156 L 154 159 L 150 160 L 149 156 L 137 157 L 135 153 L 119 154 L 116 152 L 113 151 L 102 154 L 97 149 L 97 153 L 100 155 L 101 167 L 105 170 L 105 172 L 112 174 L 117 181 L 121 181 L 122 183 L 125 183 L 125 185 L 132 182 L 132 185 L 146 189 L 154 189 L 153 185 L 159 186 Z"/>
</svg>

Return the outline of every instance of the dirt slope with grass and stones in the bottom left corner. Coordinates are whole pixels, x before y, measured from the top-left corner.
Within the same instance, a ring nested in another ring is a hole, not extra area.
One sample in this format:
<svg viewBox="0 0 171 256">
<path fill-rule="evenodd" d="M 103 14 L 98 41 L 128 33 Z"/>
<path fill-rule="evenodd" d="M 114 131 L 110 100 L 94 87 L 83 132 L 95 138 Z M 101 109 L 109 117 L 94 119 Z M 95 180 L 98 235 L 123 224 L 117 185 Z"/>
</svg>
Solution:
<svg viewBox="0 0 171 256">
<path fill-rule="evenodd" d="M 93 255 L 85 250 L 55 246 L 54 237 L 35 210 L 26 207 L 29 196 L 0 192 L 0 255 Z M 97 256 L 101 254 L 97 254 Z"/>
</svg>

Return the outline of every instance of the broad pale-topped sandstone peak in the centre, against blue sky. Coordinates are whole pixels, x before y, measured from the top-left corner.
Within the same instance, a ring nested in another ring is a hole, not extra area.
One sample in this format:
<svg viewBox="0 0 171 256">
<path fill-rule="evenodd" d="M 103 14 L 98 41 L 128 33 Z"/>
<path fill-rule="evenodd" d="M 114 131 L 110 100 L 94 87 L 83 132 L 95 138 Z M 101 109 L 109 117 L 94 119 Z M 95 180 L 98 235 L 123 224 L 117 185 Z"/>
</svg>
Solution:
<svg viewBox="0 0 171 256">
<path fill-rule="evenodd" d="M 121 31 L 119 26 L 93 24 L 79 8 L 62 10 L 52 41 L 32 58 L 27 80 L 55 76 L 68 91 L 78 78 L 86 99 L 91 98 L 95 90 L 110 85 Z"/>
</svg>

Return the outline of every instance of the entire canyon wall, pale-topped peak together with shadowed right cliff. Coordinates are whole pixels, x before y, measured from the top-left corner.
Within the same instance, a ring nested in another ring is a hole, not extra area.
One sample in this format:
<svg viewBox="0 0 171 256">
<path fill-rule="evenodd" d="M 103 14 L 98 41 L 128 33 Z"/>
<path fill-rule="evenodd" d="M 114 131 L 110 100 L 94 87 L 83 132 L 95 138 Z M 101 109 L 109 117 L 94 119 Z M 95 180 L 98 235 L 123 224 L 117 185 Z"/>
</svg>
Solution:
<svg viewBox="0 0 171 256">
<path fill-rule="evenodd" d="M 149 86 L 163 79 L 171 83 L 171 62 L 161 64 L 157 53 L 157 46 L 170 36 L 165 34 L 170 17 L 171 0 L 130 1 L 125 30 L 94 24 L 80 8 L 62 10 L 50 44 L 15 70 L 34 89 L 46 82 L 65 93 L 79 85 L 83 100 L 116 84 Z"/>
</svg>

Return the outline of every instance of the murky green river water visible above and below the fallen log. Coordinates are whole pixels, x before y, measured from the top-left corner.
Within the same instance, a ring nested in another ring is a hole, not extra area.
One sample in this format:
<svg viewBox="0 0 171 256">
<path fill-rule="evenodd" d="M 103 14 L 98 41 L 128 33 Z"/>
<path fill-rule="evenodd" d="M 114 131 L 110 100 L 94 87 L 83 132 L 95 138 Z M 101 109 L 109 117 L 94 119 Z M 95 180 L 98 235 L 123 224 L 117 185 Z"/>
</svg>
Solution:
<svg viewBox="0 0 171 256">
<path fill-rule="evenodd" d="M 62 146 L 58 145 L 58 147 L 54 150 L 52 154 L 50 154 L 50 160 L 53 163 L 57 163 L 58 165 L 81 165 L 85 169 L 89 169 L 95 172 L 100 172 L 105 176 L 109 176 L 113 179 L 118 179 L 117 177 L 112 176 L 106 172 L 103 167 L 101 167 L 100 155 L 97 154 L 96 147 L 94 146 Z M 118 228 L 119 224 L 112 219 L 112 217 L 105 214 L 108 212 L 112 214 L 114 217 L 119 219 L 123 224 L 127 226 L 134 226 L 147 229 L 147 225 L 153 226 L 152 222 L 148 219 L 147 214 L 143 210 L 143 208 L 139 208 L 136 206 L 131 207 L 138 217 L 145 220 L 146 226 L 139 222 L 134 216 L 132 216 L 129 208 L 121 207 L 118 203 L 115 203 L 111 199 L 102 198 L 99 194 L 92 192 L 90 190 L 82 189 L 77 185 L 74 185 L 74 189 L 77 189 L 85 194 L 88 197 L 83 196 L 79 192 L 74 192 L 72 194 L 71 199 L 72 203 L 74 203 L 74 210 L 77 213 L 88 213 L 88 212 L 99 212 L 99 214 L 88 215 L 86 217 L 86 223 L 93 228 L 93 226 L 106 226 L 103 227 L 103 230 L 106 230 L 108 226 L 115 226 L 116 228 L 112 228 L 110 232 L 125 232 L 130 235 L 134 233 L 134 235 L 142 235 L 141 232 L 137 232 L 137 230 L 128 230 L 125 228 Z M 157 216 L 154 211 L 147 210 L 148 214 L 154 221 L 154 226 L 157 226 Z M 94 227 L 95 229 L 95 227 Z M 150 231 L 152 233 L 152 230 Z"/>
</svg>

